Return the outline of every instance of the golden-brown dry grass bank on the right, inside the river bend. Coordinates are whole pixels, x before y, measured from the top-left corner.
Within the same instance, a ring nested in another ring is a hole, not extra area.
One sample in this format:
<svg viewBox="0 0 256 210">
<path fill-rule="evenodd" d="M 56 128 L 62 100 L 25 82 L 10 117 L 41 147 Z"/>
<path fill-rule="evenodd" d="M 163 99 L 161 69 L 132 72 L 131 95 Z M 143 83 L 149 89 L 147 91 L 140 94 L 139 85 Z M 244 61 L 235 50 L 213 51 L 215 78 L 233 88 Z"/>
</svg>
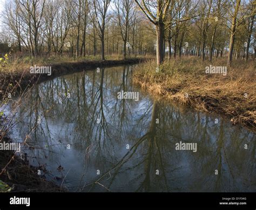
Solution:
<svg viewBox="0 0 256 210">
<path fill-rule="evenodd" d="M 226 59 L 213 60 L 212 66 L 226 66 Z M 151 60 L 137 67 L 134 83 L 168 100 L 190 105 L 205 112 L 223 113 L 233 124 L 256 128 L 255 62 L 234 60 L 227 74 L 206 73 L 208 61 L 187 58 L 166 61 L 156 69 Z"/>
</svg>

